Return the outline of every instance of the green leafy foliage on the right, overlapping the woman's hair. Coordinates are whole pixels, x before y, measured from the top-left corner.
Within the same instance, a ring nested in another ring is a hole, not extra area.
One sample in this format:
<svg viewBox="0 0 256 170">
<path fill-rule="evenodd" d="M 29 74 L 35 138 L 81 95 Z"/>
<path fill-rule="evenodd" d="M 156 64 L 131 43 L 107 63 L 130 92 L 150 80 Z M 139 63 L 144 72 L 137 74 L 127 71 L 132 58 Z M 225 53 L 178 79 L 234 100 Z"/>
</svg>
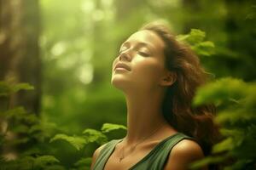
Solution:
<svg viewBox="0 0 256 170">
<path fill-rule="evenodd" d="M 215 103 L 220 107 L 216 122 L 224 139 L 215 144 L 212 154 L 195 167 L 221 162 L 234 163 L 225 169 L 254 169 L 256 163 L 256 84 L 235 78 L 222 78 L 199 89 L 194 104 Z"/>
</svg>

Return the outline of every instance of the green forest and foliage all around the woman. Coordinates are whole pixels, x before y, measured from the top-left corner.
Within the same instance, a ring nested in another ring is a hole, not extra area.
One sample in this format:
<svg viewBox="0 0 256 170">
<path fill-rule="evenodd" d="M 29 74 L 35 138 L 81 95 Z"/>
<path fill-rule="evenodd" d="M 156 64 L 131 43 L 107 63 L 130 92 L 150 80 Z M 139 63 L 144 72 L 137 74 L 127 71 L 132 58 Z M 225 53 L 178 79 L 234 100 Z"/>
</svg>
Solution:
<svg viewBox="0 0 256 170">
<path fill-rule="evenodd" d="M 253 0 L 0 0 L 0 167 L 89 169 L 99 144 L 125 135 L 110 84 L 121 42 L 164 20 L 213 77 L 195 105 L 218 106 L 224 140 L 195 167 L 254 169 L 255 11 Z"/>
</svg>

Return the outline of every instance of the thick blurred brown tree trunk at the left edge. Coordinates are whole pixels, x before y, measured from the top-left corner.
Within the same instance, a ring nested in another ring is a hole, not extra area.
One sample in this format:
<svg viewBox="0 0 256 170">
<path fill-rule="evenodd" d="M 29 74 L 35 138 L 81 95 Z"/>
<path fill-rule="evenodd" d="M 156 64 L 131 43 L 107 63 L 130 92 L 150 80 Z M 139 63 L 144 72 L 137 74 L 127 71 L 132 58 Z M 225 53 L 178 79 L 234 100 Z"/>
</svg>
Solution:
<svg viewBox="0 0 256 170">
<path fill-rule="evenodd" d="M 39 27 L 37 0 L 0 0 L 0 80 L 30 83 L 35 89 L 12 96 L 11 106 L 36 114 L 41 97 Z"/>
</svg>

